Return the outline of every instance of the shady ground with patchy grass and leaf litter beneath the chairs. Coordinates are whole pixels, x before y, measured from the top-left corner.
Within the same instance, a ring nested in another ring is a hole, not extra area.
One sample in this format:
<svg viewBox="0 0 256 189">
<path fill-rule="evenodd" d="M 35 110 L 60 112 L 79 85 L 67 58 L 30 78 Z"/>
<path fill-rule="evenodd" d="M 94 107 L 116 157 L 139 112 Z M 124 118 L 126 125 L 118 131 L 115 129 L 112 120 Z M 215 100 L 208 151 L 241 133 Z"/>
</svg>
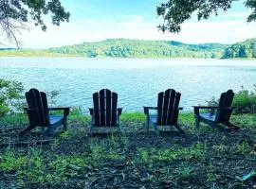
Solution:
<svg viewBox="0 0 256 189">
<path fill-rule="evenodd" d="M 179 116 L 186 131 L 145 132 L 142 113 L 121 116 L 123 134 L 91 137 L 90 117 L 74 111 L 69 129 L 19 138 L 24 114 L 0 119 L 0 188 L 253 188 L 239 177 L 256 169 L 256 116 L 238 114 L 238 132 L 201 124 L 192 113 Z"/>
</svg>

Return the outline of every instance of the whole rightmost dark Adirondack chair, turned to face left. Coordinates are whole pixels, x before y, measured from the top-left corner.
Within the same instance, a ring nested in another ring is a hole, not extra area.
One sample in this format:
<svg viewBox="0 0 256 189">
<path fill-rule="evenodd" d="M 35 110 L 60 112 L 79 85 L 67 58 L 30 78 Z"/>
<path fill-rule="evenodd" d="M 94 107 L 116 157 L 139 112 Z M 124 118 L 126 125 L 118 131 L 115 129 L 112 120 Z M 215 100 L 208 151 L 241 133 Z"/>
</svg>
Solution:
<svg viewBox="0 0 256 189">
<path fill-rule="evenodd" d="M 199 128 L 199 123 L 204 122 L 210 125 L 213 129 L 220 129 L 228 131 L 229 129 L 239 129 L 229 122 L 229 118 L 233 111 L 231 107 L 234 93 L 232 90 L 221 94 L 218 106 L 193 106 L 194 117 L 195 117 L 195 129 Z M 210 112 L 200 113 L 200 109 L 210 110 Z M 223 124 L 228 127 L 225 129 L 219 124 Z"/>
</svg>

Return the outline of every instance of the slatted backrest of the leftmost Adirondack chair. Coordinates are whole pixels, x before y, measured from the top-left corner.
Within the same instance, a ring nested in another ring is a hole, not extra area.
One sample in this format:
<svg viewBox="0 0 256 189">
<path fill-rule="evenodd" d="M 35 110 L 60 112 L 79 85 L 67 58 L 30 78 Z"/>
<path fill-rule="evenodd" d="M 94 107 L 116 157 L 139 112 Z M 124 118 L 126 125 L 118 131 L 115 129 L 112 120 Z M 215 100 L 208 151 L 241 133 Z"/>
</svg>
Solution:
<svg viewBox="0 0 256 189">
<path fill-rule="evenodd" d="M 49 112 L 46 94 L 37 89 L 30 89 L 26 93 L 27 115 L 30 126 L 46 127 L 49 125 Z"/>
</svg>

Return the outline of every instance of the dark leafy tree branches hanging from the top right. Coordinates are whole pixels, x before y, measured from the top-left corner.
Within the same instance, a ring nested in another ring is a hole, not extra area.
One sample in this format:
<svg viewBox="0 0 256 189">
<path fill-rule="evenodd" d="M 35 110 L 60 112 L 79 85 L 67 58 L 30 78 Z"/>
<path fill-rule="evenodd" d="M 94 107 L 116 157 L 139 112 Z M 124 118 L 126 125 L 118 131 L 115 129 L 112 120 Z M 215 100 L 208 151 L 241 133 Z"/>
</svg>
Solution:
<svg viewBox="0 0 256 189">
<path fill-rule="evenodd" d="M 208 19 L 211 13 L 218 15 L 218 11 L 231 8 L 231 4 L 237 0 L 168 0 L 157 6 L 157 14 L 163 18 L 163 24 L 158 26 L 160 30 L 178 33 L 181 25 L 197 14 L 198 21 Z M 256 21 L 256 0 L 246 0 L 245 6 L 252 9 L 247 17 L 247 22 Z"/>
</svg>

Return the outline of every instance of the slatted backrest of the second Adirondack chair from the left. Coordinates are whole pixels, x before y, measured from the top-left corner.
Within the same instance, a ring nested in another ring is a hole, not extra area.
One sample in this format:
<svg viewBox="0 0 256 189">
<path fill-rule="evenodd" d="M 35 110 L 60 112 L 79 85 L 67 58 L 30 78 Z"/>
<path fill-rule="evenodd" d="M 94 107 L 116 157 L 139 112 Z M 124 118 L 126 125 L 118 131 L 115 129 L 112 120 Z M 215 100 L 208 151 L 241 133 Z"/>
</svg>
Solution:
<svg viewBox="0 0 256 189">
<path fill-rule="evenodd" d="M 118 123 L 118 94 L 102 89 L 93 94 L 95 126 L 112 127 Z"/>
</svg>

